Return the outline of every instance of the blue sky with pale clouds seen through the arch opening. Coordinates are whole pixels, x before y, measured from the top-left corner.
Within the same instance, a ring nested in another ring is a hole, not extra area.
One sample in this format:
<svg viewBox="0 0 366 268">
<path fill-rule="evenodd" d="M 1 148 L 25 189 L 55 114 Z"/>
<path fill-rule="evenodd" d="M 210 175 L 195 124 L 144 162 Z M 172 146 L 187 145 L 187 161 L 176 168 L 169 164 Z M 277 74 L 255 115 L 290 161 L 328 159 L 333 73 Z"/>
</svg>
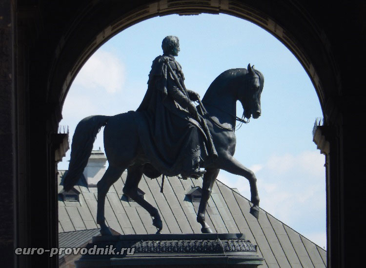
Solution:
<svg viewBox="0 0 366 268">
<path fill-rule="evenodd" d="M 262 116 L 236 132 L 235 157 L 258 179 L 260 206 L 321 247 L 325 236 L 325 158 L 312 141 L 322 116 L 310 78 L 292 53 L 257 25 L 232 16 L 169 15 L 142 21 L 107 41 L 85 63 L 63 106 L 61 125 L 89 115 L 136 110 L 145 94 L 151 62 L 167 35 L 180 39 L 177 61 L 188 89 L 204 95 L 210 83 L 248 63 L 264 74 Z M 237 114 L 242 114 L 238 103 Z M 94 148 L 103 150 L 102 131 Z M 68 169 L 70 152 L 59 163 Z M 250 199 L 243 177 L 221 171 L 218 179 Z"/>
</svg>

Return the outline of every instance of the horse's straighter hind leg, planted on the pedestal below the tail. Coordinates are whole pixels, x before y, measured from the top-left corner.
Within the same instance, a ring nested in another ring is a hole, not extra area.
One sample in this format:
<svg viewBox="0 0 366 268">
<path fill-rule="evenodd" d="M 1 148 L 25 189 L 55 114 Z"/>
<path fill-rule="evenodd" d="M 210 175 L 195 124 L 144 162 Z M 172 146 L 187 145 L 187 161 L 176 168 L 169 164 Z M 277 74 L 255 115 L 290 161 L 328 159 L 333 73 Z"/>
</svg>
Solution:
<svg viewBox="0 0 366 268">
<path fill-rule="evenodd" d="M 104 173 L 102 179 L 97 183 L 98 187 L 98 206 L 97 206 L 97 223 L 101 226 L 102 235 L 112 235 L 111 231 L 105 224 L 104 203 L 105 196 L 113 183 L 121 176 L 124 169 L 109 166 Z"/>
</svg>

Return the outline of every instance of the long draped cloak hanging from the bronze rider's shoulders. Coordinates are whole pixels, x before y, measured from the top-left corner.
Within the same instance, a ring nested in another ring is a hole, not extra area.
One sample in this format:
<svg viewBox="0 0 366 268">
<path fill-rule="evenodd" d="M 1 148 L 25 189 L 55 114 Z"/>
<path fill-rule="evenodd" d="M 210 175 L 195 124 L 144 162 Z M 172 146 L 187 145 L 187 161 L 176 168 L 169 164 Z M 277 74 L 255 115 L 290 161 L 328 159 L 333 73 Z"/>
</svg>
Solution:
<svg viewBox="0 0 366 268">
<path fill-rule="evenodd" d="M 200 124 L 172 96 L 173 91 L 181 90 L 189 98 L 181 65 L 170 55 L 156 57 L 147 84 L 146 94 L 136 110 L 142 149 L 152 166 L 164 175 L 187 172 L 192 169 L 194 159 L 200 156 L 206 159 L 208 153 L 207 138 Z"/>
</svg>

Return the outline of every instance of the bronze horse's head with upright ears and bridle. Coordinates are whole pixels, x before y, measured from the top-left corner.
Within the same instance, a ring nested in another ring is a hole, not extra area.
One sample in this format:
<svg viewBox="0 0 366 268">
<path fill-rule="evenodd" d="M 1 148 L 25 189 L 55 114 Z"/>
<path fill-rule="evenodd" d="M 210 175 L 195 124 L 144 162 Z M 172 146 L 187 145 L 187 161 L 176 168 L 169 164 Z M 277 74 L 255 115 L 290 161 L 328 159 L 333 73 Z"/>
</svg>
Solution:
<svg viewBox="0 0 366 268">
<path fill-rule="evenodd" d="M 256 119 L 261 116 L 261 93 L 263 90 L 264 77 L 261 72 L 248 64 L 248 73 L 245 75 L 243 90 L 240 90 L 238 99 L 243 105 L 245 118 Z"/>
</svg>

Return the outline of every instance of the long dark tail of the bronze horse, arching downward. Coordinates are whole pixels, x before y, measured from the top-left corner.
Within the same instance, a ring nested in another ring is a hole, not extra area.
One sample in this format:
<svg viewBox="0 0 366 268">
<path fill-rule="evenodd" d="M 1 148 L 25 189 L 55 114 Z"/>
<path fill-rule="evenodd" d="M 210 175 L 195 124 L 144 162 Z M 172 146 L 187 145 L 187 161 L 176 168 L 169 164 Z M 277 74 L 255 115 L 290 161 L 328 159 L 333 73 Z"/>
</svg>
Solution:
<svg viewBox="0 0 366 268">
<path fill-rule="evenodd" d="M 69 170 L 63 178 L 63 189 L 71 190 L 84 171 L 97 134 L 107 124 L 110 116 L 92 115 L 82 119 L 76 126 L 71 143 Z"/>
</svg>

